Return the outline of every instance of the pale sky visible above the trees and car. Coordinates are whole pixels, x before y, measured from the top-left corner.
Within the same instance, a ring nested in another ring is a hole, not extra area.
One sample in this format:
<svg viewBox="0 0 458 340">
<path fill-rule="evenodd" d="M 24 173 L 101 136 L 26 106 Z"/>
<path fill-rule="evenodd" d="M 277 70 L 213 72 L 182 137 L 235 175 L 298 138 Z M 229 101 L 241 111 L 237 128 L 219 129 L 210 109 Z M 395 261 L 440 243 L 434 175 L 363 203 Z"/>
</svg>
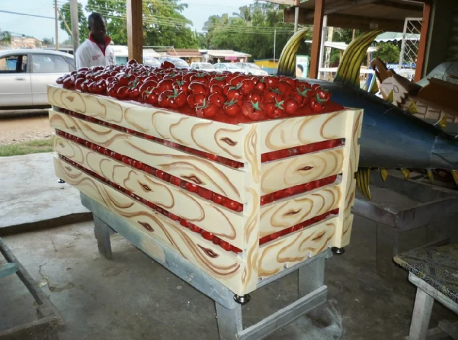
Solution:
<svg viewBox="0 0 458 340">
<path fill-rule="evenodd" d="M 59 0 L 59 2 L 66 1 Z M 85 6 L 87 0 L 78 0 L 78 2 Z M 220 4 L 216 4 L 217 1 L 214 0 L 181 0 L 181 2 L 188 4 L 183 15 L 193 22 L 193 30 L 196 29 L 201 32 L 210 15 L 232 14 L 238 12 L 239 7 L 253 1 L 230 0 L 221 1 L 223 3 Z M 54 17 L 54 0 L 0 0 L 0 10 Z M 40 40 L 55 36 L 54 20 L 3 12 L 0 12 L 0 29 L 34 36 Z M 59 29 L 59 42 L 65 41 L 67 38 L 66 31 Z"/>
</svg>

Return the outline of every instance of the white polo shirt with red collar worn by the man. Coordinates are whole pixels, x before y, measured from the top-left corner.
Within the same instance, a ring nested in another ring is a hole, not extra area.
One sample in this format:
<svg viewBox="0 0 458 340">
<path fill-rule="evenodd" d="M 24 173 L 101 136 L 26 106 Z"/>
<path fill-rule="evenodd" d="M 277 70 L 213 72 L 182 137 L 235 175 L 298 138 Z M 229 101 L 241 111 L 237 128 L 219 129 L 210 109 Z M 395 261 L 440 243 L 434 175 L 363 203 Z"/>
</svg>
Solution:
<svg viewBox="0 0 458 340">
<path fill-rule="evenodd" d="M 89 39 L 86 39 L 76 50 L 76 69 L 81 67 L 115 65 L 115 51 L 109 45 L 110 42 L 111 38 L 108 36 L 105 37 L 105 48 L 103 48 L 89 34 Z"/>
</svg>

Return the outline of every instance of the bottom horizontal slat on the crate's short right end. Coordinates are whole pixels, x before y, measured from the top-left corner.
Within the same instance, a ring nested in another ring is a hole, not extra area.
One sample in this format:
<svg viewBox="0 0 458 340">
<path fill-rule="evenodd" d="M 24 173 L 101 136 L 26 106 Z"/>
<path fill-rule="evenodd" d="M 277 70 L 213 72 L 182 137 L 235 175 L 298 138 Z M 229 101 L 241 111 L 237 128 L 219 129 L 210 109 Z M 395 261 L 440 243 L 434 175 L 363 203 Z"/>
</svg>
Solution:
<svg viewBox="0 0 458 340">
<path fill-rule="evenodd" d="M 336 223 L 334 217 L 259 247 L 259 277 L 277 274 L 332 247 Z"/>
</svg>

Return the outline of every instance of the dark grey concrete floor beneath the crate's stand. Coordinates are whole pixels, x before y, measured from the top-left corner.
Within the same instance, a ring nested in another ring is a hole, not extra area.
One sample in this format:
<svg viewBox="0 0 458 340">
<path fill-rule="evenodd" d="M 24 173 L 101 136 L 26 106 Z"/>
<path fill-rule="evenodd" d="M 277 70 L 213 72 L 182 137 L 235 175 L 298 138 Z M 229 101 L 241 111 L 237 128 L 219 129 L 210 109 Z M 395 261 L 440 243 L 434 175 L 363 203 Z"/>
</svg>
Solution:
<svg viewBox="0 0 458 340">
<path fill-rule="evenodd" d="M 119 235 L 113 260 L 98 254 L 92 222 L 4 237 L 61 312 L 61 340 L 217 340 L 213 302 L 154 263 Z M 409 332 L 415 289 L 375 270 L 376 226 L 355 217 L 352 243 L 327 260 L 327 322 L 301 317 L 269 340 L 386 340 Z M 0 260 L 0 264 L 4 261 Z M 394 266 L 394 265 L 393 265 Z M 296 298 L 293 274 L 252 294 L 244 326 Z M 0 330 L 32 321 L 35 304 L 16 276 L 0 280 Z M 435 304 L 431 326 L 456 316 Z"/>
</svg>

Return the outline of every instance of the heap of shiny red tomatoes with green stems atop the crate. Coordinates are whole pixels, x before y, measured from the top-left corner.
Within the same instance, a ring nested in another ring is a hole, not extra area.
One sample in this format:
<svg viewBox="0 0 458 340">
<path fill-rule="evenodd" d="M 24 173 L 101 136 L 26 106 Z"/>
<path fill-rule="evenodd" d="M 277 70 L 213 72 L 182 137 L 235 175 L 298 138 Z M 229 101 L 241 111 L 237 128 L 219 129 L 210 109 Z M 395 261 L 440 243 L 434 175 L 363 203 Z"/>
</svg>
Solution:
<svg viewBox="0 0 458 340">
<path fill-rule="evenodd" d="M 319 113 L 330 101 L 327 89 L 298 79 L 180 70 L 169 62 L 158 68 L 135 60 L 123 66 L 83 67 L 57 83 L 221 121 L 224 117 L 239 117 L 243 122 Z"/>
</svg>

